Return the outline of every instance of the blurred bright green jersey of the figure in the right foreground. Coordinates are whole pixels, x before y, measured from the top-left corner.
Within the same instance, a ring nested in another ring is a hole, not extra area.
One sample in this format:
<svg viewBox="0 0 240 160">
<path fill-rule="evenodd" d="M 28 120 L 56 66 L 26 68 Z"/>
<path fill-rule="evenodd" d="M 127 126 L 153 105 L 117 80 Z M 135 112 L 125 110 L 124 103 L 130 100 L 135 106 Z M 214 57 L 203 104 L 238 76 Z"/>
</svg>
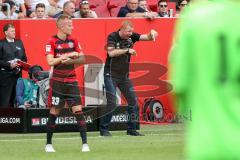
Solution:
<svg viewBox="0 0 240 160">
<path fill-rule="evenodd" d="M 171 80 L 186 159 L 240 159 L 240 1 L 192 4 L 176 30 Z"/>
</svg>

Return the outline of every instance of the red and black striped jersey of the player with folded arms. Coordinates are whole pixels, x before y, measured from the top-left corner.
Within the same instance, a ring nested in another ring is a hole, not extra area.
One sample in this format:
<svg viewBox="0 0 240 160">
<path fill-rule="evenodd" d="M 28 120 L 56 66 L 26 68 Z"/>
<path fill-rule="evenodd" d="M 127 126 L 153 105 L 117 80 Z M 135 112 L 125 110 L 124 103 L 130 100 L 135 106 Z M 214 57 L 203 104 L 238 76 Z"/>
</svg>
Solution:
<svg viewBox="0 0 240 160">
<path fill-rule="evenodd" d="M 66 40 L 61 40 L 57 35 L 51 37 L 46 44 L 46 55 L 53 55 L 54 58 L 60 57 L 62 54 L 70 52 L 82 52 L 79 42 L 68 36 Z M 53 67 L 52 80 L 61 82 L 76 81 L 76 73 L 74 64 L 58 64 Z"/>
</svg>

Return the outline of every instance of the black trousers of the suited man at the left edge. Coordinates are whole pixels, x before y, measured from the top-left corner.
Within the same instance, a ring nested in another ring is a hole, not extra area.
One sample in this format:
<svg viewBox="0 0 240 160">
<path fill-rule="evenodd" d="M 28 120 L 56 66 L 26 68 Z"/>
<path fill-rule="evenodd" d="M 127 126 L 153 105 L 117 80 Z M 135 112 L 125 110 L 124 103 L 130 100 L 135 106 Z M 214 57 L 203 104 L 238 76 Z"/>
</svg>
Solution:
<svg viewBox="0 0 240 160">
<path fill-rule="evenodd" d="M 0 108 L 13 107 L 16 97 L 16 84 L 18 77 L 15 75 L 7 77 L 0 84 Z"/>
</svg>

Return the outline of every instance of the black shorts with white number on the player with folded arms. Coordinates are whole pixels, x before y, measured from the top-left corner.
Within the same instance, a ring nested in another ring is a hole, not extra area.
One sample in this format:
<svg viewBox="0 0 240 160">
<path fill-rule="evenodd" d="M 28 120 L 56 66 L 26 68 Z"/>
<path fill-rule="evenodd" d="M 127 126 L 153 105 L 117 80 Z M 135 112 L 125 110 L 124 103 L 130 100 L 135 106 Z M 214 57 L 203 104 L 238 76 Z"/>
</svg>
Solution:
<svg viewBox="0 0 240 160">
<path fill-rule="evenodd" d="M 50 80 L 48 106 L 63 108 L 82 104 L 78 82 L 60 82 Z"/>
</svg>

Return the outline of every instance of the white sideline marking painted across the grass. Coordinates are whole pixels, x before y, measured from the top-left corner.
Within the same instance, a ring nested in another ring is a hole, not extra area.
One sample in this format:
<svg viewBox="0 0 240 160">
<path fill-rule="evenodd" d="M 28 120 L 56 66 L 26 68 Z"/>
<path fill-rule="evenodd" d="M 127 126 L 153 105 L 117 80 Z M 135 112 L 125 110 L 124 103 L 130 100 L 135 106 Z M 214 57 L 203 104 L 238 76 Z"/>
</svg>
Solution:
<svg viewBox="0 0 240 160">
<path fill-rule="evenodd" d="M 182 135 L 182 134 L 145 134 L 146 136 L 177 136 L 177 135 Z M 102 137 L 102 136 L 94 136 L 94 137 L 88 137 L 88 139 L 98 139 L 98 138 L 106 138 L 106 139 L 111 139 L 111 138 L 119 138 L 119 137 L 131 137 L 128 135 L 122 135 L 122 136 L 112 136 L 112 137 Z M 136 136 L 133 136 L 136 137 Z M 144 136 L 140 136 L 140 137 L 144 137 Z M 3 138 L 3 137 L 1 137 Z M 14 137 L 13 137 L 14 138 Z M 78 136 L 76 137 L 53 137 L 53 139 L 79 139 Z M 22 141 L 43 141 L 46 140 L 46 138 L 33 138 L 33 139 L 1 139 L 0 142 L 22 142 Z"/>
</svg>

